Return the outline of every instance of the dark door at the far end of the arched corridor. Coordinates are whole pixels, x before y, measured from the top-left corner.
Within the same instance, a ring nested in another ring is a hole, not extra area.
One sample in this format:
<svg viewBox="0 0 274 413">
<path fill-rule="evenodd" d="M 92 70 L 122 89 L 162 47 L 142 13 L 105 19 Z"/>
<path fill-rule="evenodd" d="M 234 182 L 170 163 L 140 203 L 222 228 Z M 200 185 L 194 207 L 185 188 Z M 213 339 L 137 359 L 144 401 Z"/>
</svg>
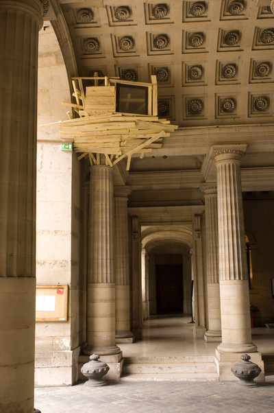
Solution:
<svg viewBox="0 0 274 413">
<path fill-rule="evenodd" d="M 182 264 L 156 265 L 157 312 L 170 314 L 183 311 Z"/>
</svg>

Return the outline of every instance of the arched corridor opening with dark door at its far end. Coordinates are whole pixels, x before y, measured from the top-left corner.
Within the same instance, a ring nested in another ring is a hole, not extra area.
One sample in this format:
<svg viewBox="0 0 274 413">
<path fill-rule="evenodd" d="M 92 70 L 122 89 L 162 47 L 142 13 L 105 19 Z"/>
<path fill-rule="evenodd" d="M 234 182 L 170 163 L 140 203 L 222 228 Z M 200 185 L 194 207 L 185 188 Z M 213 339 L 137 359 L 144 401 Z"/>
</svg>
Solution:
<svg viewBox="0 0 274 413">
<path fill-rule="evenodd" d="M 191 241 L 188 226 L 143 228 L 143 314 L 191 314 Z"/>
</svg>

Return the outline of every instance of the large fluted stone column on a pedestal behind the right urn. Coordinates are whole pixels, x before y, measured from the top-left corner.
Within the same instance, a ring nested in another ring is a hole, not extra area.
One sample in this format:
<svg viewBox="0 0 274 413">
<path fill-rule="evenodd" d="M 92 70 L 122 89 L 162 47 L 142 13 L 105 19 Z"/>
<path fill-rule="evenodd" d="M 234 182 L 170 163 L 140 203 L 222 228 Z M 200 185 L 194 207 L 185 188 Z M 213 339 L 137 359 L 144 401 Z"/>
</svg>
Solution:
<svg viewBox="0 0 274 413">
<path fill-rule="evenodd" d="M 245 226 L 240 182 L 240 158 L 246 144 L 214 145 L 216 161 L 219 227 L 219 276 L 222 342 L 216 359 L 220 379 L 234 379 L 230 368 L 240 355 L 253 353 L 258 364 L 260 355 L 251 342 L 249 283 L 245 253 Z M 263 370 L 262 364 L 260 367 Z"/>
</svg>

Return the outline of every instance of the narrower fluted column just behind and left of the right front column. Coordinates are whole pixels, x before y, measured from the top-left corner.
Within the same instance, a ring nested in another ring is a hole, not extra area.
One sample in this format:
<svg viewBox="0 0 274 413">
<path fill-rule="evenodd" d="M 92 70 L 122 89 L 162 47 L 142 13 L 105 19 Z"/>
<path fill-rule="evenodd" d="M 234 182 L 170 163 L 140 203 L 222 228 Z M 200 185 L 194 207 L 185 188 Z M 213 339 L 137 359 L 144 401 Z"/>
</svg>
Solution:
<svg viewBox="0 0 274 413">
<path fill-rule="evenodd" d="M 208 277 L 208 331 L 205 340 L 221 341 L 221 309 L 219 286 L 218 212 L 216 184 L 202 184 L 206 202 L 206 266 Z"/>
</svg>

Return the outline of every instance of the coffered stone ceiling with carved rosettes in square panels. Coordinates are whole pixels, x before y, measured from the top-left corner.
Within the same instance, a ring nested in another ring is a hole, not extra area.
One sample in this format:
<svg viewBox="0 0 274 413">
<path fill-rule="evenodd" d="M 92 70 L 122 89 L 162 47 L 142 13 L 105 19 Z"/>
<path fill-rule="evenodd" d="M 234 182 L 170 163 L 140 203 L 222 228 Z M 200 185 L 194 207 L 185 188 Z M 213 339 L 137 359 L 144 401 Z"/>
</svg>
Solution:
<svg viewBox="0 0 274 413">
<path fill-rule="evenodd" d="M 273 122 L 274 14 L 247 0 L 59 0 L 81 76 L 158 79 L 179 126 Z"/>
</svg>

